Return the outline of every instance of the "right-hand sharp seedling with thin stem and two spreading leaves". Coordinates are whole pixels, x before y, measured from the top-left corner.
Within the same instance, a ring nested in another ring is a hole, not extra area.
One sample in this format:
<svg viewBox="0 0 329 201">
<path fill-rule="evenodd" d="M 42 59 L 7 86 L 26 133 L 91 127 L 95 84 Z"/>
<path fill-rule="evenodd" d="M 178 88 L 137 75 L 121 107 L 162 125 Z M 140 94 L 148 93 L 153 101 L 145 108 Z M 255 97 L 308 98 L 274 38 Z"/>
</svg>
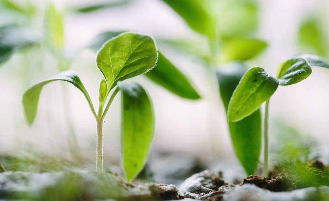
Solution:
<svg viewBox="0 0 329 201">
<path fill-rule="evenodd" d="M 329 68 L 329 62 L 311 54 L 298 54 L 281 63 L 276 77 L 268 74 L 263 68 L 249 69 L 241 78 L 228 105 L 228 122 L 238 122 L 259 109 L 265 103 L 264 117 L 264 169 L 263 175 L 268 175 L 268 109 L 270 97 L 279 85 L 286 86 L 298 83 L 307 78 L 311 66 Z M 251 161 L 252 162 L 252 161 Z"/>
</svg>

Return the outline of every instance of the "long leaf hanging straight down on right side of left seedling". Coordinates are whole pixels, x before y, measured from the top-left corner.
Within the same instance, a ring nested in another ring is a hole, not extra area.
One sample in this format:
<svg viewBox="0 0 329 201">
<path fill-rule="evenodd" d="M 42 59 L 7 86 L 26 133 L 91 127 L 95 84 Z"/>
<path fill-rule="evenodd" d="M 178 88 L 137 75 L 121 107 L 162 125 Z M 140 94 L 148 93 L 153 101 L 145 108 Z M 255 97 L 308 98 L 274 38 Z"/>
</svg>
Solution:
<svg viewBox="0 0 329 201">
<path fill-rule="evenodd" d="M 136 82 L 118 82 L 122 94 L 122 166 L 128 182 L 145 165 L 154 135 L 153 105 Z"/>
</svg>

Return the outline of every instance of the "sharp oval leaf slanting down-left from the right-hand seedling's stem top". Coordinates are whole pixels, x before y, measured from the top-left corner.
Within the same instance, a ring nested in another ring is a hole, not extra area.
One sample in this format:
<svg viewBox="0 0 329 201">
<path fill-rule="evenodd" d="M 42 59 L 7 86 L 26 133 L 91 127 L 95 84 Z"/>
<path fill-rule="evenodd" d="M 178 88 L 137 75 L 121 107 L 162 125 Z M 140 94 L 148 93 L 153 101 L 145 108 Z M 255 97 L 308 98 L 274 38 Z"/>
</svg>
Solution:
<svg viewBox="0 0 329 201">
<path fill-rule="evenodd" d="M 228 122 L 237 122 L 256 111 L 278 88 L 279 81 L 260 67 L 249 69 L 230 100 Z"/>
</svg>

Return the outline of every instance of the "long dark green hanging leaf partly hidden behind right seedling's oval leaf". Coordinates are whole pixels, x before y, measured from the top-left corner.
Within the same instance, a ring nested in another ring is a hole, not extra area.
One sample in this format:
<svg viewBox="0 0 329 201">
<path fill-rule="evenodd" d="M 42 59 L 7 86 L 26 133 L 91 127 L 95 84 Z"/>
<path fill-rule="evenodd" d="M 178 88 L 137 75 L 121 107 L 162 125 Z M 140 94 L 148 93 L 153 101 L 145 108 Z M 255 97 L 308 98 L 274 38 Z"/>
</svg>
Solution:
<svg viewBox="0 0 329 201">
<path fill-rule="evenodd" d="M 243 63 L 232 62 L 216 71 L 219 93 L 226 112 L 232 94 L 246 70 Z M 252 175 L 257 170 L 261 153 L 261 123 L 260 109 L 238 122 L 228 123 L 234 152 L 247 175 Z"/>
</svg>

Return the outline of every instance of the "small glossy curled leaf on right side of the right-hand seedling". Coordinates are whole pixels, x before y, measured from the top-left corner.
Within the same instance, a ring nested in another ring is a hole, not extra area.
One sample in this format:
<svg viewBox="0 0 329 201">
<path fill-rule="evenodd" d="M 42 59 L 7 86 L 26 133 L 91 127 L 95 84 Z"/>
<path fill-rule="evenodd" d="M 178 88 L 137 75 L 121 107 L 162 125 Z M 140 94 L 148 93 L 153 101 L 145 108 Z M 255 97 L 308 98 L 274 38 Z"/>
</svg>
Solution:
<svg viewBox="0 0 329 201">
<path fill-rule="evenodd" d="M 277 69 L 279 85 L 291 85 L 310 76 L 312 68 L 303 58 L 292 58 L 281 63 Z"/>
</svg>

